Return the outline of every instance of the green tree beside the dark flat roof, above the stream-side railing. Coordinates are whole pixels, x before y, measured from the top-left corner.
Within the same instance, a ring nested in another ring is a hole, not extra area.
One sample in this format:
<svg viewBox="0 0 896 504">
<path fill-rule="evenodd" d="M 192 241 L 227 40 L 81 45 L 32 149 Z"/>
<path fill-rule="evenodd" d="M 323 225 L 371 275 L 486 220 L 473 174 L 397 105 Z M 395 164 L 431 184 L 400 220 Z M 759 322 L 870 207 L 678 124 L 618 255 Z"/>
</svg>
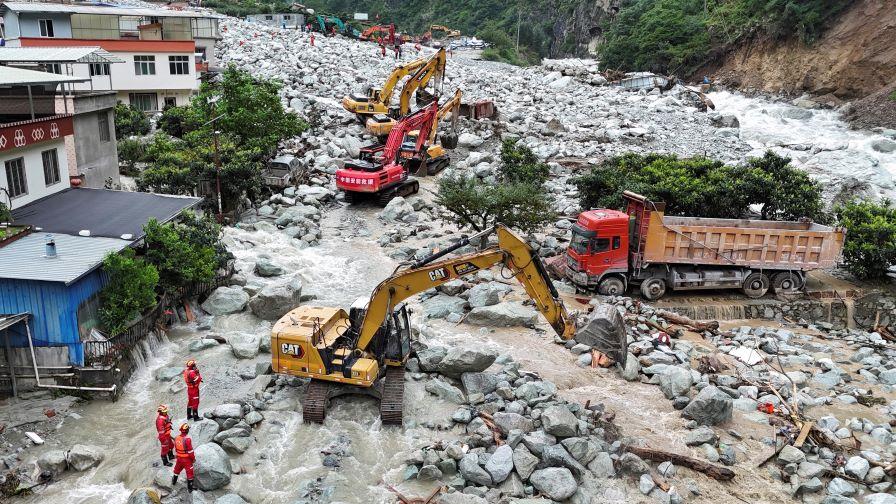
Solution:
<svg viewBox="0 0 896 504">
<path fill-rule="evenodd" d="M 166 292 L 175 293 L 215 277 L 219 260 L 216 247 L 208 245 L 209 239 L 191 226 L 175 222 L 160 224 L 150 219 L 143 226 L 143 232 L 146 233 L 146 260 L 158 270 Z"/>
</svg>

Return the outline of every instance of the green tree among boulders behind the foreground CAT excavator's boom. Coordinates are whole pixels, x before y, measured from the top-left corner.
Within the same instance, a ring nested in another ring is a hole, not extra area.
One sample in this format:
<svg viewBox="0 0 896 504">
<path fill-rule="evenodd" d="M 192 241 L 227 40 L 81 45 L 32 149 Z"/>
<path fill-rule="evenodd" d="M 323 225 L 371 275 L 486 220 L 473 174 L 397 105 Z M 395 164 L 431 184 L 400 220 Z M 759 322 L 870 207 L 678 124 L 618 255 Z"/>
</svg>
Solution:
<svg viewBox="0 0 896 504">
<path fill-rule="evenodd" d="M 501 158 L 495 184 L 465 174 L 439 179 L 436 202 L 448 210 L 447 220 L 476 231 L 500 222 L 533 232 L 556 218 L 554 198 L 544 187 L 547 165 L 513 142 L 502 145 Z"/>
</svg>

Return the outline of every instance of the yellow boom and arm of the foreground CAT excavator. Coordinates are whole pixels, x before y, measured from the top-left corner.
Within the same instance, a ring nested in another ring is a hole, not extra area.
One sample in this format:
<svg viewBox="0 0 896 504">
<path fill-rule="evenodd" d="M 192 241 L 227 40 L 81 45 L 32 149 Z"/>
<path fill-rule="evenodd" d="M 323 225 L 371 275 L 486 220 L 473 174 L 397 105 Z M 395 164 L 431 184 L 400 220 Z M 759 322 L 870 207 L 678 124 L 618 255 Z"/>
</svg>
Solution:
<svg viewBox="0 0 896 504">
<path fill-rule="evenodd" d="M 412 264 L 408 269 L 397 271 L 380 283 L 374 289 L 367 305 L 367 312 L 358 330 L 356 348 L 365 350 L 377 330 L 389 320 L 395 306 L 405 299 L 497 264 L 504 265 L 523 284 L 526 293 L 535 301 L 535 307 L 551 324 L 558 336 L 564 340 L 572 338 L 576 331 L 575 322 L 560 300 L 541 259 L 510 229 L 497 225 L 494 230 L 498 234 L 497 246 L 436 262 L 454 250 L 469 245 L 475 237 L 465 239 L 438 254 Z"/>
</svg>

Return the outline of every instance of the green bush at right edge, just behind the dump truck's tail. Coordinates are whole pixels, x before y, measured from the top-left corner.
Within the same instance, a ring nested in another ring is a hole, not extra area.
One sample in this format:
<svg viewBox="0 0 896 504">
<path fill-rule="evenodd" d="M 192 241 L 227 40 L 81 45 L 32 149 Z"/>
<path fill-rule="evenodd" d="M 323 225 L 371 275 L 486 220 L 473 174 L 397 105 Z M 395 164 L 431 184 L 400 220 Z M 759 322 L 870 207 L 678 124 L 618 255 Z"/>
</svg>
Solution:
<svg viewBox="0 0 896 504">
<path fill-rule="evenodd" d="M 834 210 L 846 228 L 843 264 L 861 279 L 884 278 L 896 264 L 896 208 L 892 202 L 851 201 Z"/>
</svg>

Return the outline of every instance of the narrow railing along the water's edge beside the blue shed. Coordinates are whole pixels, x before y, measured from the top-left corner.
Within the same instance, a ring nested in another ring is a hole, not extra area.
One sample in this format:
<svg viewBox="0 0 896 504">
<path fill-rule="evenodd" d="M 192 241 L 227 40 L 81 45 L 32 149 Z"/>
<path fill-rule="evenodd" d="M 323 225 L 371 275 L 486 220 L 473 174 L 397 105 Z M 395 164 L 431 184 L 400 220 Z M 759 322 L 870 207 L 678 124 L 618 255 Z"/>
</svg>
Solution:
<svg viewBox="0 0 896 504">
<path fill-rule="evenodd" d="M 165 316 L 166 307 L 173 302 L 200 296 L 223 285 L 234 272 L 233 261 L 229 262 L 224 271 L 216 275 L 215 278 L 208 282 L 196 282 L 187 287 L 181 288 L 174 298 L 163 295 L 156 306 L 143 314 L 138 320 L 128 326 L 123 332 L 105 341 L 85 341 L 84 342 L 84 365 L 91 366 L 112 366 L 119 362 L 126 352 L 130 351 L 137 345 L 140 340 L 146 337 L 153 329 L 155 329 Z"/>
</svg>

